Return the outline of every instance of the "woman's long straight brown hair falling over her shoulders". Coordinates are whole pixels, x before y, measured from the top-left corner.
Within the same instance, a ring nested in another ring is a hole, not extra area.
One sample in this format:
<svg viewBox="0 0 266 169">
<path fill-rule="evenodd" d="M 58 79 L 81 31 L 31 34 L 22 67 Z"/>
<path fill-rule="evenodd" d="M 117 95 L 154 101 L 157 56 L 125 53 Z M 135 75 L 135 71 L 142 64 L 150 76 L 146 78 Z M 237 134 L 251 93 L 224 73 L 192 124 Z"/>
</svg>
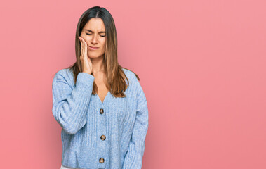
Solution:
<svg viewBox="0 0 266 169">
<path fill-rule="evenodd" d="M 107 9 L 100 6 L 94 6 L 86 10 L 79 18 L 79 23 L 77 25 L 76 37 L 75 37 L 75 49 L 77 61 L 68 68 L 72 70 L 74 74 L 74 84 L 77 82 L 77 75 L 82 72 L 81 61 L 79 56 L 81 54 L 81 43 L 79 41 L 79 36 L 83 27 L 88 23 L 91 18 L 101 18 L 105 24 L 106 41 L 105 41 L 105 61 L 103 61 L 105 67 L 105 75 L 107 75 L 107 89 L 115 97 L 125 97 L 124 92 L 126 91 L 128 84 L 126 84 L 126 77 L 123 67 L 119 65 L 117 60 L 117 30 L 114 25 L 114 19 L 112 15 L 107 11 Z M 128 70 L 127 68 L 125 68 Z M 132 71 L 132 70 L 131 70 Z M 133 72 L 133 71 L 132 71 Z M 134 72 L 133 72 L 134 73 Z M 135 73 L 134 73 L 135 74 Z M 92 75 L 92 74 L 91 74 Z M 135 74 L 138 80 L 140 78 Z M 98 92 L 98 87 L 93 82 L 93 92 L 96 94 Z"/>
</svg>

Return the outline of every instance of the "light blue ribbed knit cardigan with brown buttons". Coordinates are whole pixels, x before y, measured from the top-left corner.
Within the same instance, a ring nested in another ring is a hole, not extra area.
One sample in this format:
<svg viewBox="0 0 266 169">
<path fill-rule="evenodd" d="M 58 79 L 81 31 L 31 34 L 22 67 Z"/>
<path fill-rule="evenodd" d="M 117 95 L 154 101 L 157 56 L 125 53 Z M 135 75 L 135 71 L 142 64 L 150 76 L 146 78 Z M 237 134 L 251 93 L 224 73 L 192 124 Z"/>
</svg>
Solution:
<svg viewBox="0 0 266 169">
<path fill-rule="evenodd" d="M 52 111 L 62 127 L 62 165 L 141 168 L 148 129 L 147 100 L 135 74 L 123 70 L 129 80 L 126 97 L 116 98 L 108 92 L 103 103 L 92 94 L 93 75 L 79 73 L 74 85 L 71 70 L 55 74 Z"/>
</svg>

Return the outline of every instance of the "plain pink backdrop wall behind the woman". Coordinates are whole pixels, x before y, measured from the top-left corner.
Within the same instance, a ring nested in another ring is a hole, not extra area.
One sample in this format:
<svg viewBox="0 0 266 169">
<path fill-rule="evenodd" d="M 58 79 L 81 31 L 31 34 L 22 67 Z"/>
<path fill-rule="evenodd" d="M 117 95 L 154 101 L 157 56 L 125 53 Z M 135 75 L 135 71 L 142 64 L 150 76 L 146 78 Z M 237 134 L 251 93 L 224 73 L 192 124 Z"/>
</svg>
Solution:
<svg viewBox="0 0 266 169">
<path fill-rule="evenodd" d="M 142 168 L 266 168 L 266 2 L 1 1 L 1 168 L 60 168 L 52 80 L 86 9 L 117 26 L 149 107 Z"/>
</svg>

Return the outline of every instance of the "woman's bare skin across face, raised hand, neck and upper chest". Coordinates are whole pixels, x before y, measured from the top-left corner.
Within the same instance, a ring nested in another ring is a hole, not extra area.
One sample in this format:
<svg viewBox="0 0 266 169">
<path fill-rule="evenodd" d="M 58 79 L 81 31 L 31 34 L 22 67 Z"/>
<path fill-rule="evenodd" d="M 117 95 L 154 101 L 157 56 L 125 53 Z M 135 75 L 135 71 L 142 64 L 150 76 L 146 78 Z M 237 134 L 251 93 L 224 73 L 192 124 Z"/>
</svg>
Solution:
<svg viewBox="0 0 266 169">
<path fill-rule="evenodd" d="M 91 31 L 89 31 L 91 30 Z M 84 73 L 95 77 L 95 83 L 98 87 L 98 96 L 103 101 L 109 91 L 105 85 L 106 76 L 104 73 L 104 56 L 105 56 L 105 25 L 100 18 L 91 18 L 86 23 L 79 37 L 81 42 L 81 65 Z M 90 49 L 89 46 L 98 47 Z M 99 71 L 100 70 L 100 71 Z M 94 73 L 97 72 L 97 73 Z"/>
</svg>

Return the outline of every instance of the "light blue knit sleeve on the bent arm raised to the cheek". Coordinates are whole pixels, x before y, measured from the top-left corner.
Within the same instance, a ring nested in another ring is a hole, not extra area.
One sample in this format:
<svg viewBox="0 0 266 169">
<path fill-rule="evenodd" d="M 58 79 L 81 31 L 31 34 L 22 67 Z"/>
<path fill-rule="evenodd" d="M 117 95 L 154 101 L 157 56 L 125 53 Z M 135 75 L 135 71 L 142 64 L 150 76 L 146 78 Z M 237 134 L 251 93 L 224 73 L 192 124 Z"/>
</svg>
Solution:
<svg viewBox="0 0 266 169">
<path fill-rule="evenodd" d="M 94 76 L 79 73 L 76 86 L 69 85 L 66 73 L 58 71 L 53 78 L 53 116 L 68 134 L 76 134 L 86 124 Z"/>
</svg>

